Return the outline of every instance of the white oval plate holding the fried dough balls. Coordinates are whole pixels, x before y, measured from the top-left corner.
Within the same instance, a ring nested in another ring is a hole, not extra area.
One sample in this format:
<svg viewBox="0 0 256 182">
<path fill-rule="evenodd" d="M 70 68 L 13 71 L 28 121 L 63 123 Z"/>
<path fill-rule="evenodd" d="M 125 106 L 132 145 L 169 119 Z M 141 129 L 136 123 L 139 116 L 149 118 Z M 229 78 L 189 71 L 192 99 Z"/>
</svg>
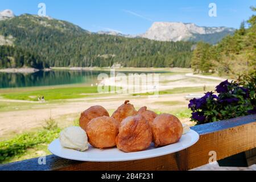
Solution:
<svg viewBox="0 0 256 182">
<path fill-rule="evenodd" d="M 140 152 L 126 153 L 118 150 L 118 148 L 100 150 L 92 146 L 89 146 L 89 149 L 85 152 L 79 152 L 62 147 L 59 139 L 56 139 L 49 144 L 48 150 L 52 152 L 52 154 L 65 159 L 88 162 L 119 162 L 155 158 L 162 155 L 172 154 L 192 146 L 198 140 L 199 134 L 197 134 L 196 131 L 190 130 L 187 134 L 183 135 L 177 143 L 157 148 L 154 147 L 154 143 L 152 143 L 150 148 Z"/>
</svg>

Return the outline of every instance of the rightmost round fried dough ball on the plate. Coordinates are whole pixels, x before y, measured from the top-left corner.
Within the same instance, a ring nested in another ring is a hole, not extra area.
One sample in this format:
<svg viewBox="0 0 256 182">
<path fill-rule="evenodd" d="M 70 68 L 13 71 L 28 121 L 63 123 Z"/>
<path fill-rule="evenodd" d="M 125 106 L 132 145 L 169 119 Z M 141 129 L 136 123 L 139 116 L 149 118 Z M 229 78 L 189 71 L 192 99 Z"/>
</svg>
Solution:
<svg viewBox="0 0 256 182">
<path fill-rule="evenodd" d="M 179 142 L 183 126 L 179 119 L 171 114 L 160 114 L 152 123 L 155 146 L 167 146 Z"/>
</svg>

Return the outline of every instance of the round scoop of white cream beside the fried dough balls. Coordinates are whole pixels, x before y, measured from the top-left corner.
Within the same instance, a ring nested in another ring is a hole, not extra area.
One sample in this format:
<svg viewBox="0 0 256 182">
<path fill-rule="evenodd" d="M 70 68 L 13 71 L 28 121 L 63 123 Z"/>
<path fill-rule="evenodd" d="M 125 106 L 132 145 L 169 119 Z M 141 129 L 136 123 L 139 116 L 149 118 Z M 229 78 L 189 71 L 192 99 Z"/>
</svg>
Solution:
<svg viewBox="0 0 256 182">
<path fill-rule="evenodd" d="M 60 133 L 60 144 L 65 148 L 85 151 L 88 149 L 87 134 L 79 126 L 68 127 Z"/>
</svg>

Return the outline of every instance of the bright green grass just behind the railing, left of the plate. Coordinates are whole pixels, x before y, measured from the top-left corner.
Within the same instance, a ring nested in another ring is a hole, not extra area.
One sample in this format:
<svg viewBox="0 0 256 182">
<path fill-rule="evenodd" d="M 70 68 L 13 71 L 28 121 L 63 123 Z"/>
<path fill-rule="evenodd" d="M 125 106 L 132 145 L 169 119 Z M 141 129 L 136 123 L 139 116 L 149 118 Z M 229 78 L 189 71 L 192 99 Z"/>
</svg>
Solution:
<svg viewBox="0 0 256 182">
<path fill-rule="evenodd" d="M 47 146 L 52 140 L 59 137 L 61 129 L 52 118 L 49 118 L 42 129 L 16 135 L 16 137 L 0 142 L 0 164 L 29 159 L 38 155 L 47 154 Z M 43 151 L 42 151 L 43 150 Z M 32 152 L 34 151 L 34 152 Z M 32 152 L 32 153 L 31 153 Z M 48 152 L 49 153 L 49 152 Z M 28 156 L 27 156 L 28 155 Z"/>
</svg>

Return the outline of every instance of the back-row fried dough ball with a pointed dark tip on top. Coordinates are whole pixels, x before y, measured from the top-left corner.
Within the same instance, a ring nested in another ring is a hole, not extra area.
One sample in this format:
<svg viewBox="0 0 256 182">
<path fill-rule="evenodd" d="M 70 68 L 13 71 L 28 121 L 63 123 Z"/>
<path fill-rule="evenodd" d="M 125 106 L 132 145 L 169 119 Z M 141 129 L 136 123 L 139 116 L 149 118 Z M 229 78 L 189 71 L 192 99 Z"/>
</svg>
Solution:
<svg viewBox="0 0 256 182">
<path fill-rule="evenodd" d="M 119 106 L 118 109 L 112 114 L 112 117 L 117 119 L 117 121 L 120 123 L 123 121 L 123 119 L 137 114 L 137 110 L 135 110 L 134 106 L 128 102 L 130 101 L 125 101 L 125 104 Z"/>
</svg>

